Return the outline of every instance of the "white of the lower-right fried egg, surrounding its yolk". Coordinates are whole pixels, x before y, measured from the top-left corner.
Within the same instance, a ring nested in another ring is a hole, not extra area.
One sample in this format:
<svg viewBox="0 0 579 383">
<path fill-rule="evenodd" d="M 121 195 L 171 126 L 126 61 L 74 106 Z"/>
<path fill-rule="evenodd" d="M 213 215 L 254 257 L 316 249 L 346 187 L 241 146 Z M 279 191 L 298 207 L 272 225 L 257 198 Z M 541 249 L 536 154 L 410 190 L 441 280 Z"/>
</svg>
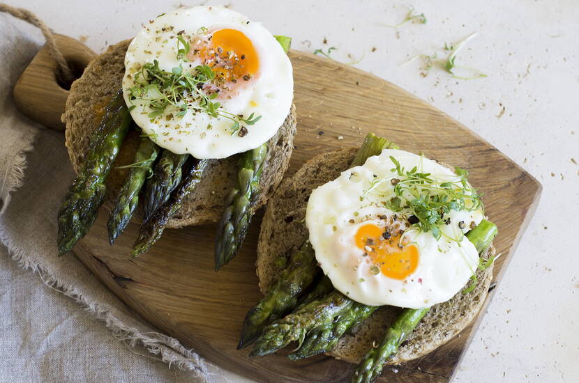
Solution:
<svg viewBox="0 0 579 383">
<path fill-rule="evenodd" d="M 421 233 L 396 214 L 396 230 L 406 230 L 405 236 L 419 249 L 419 264 L 405 280 L 391 279 L 381 272 L 370 271 L 373 263 L 356 247 L 355 235 L 360 226 L 384 226 L 392 221 L 394 212 L 384 208 L 384 192 L 391 182 L 384 182 L 380 194 L 364 193 L 375 179 L 396 178 L 389 159 L 395 157 L 406 169 L 419 166 L 430 177 L 441 182 L 456 181 L 457 176 L 436 162 L 403 150 L 384 150 L 370 157 L 363 166 L 344 171 L 331 182 L 315 189 L 308 200 L 306 225 L 317 261 L 329 276 L 333 286 L 356 302 L 371 306 L 408 308 L 430 307 L 446 302 L 465 286 L 479 263 L 479 254 L 463 235 L 469 226 L 480 223 L 482 209 L 451 211 L 449 225 L 441 226 L 443 235 L 436 240 L 432 233 Z M 363 196 L 363 198 L 360 198 Z M 362 201 L 361 201 L 362 199 Z M 408 214 L 409 215 L 409 214 Z M 384 219 L 384 216 L 387 219 Z M 465 223 L 459 227 L 460 221 Z M 451 240 L 454 239 L 454 240 Z"/>
</svg>

